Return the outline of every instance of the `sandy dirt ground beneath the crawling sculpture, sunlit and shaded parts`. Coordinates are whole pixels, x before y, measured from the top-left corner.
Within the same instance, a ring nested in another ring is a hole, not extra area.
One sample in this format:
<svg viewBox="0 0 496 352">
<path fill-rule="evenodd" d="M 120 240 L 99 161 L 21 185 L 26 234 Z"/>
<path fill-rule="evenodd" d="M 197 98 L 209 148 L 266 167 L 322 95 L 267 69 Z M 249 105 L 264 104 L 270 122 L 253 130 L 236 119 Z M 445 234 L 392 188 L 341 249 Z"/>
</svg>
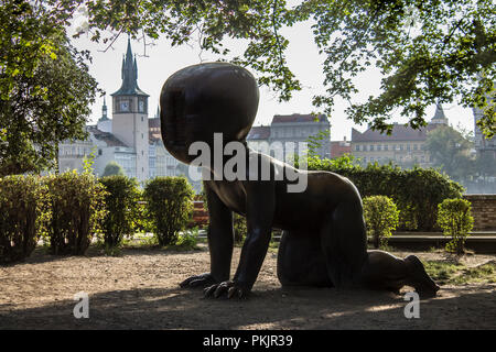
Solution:
<svg viewBox="0 0 496 352">
<path fill-rule="evenodd" d="M 423 260 L 442 256 L 417 254 Z M 233 272 L 238 257 L 235 249 Z M 495 257 L 472 255 L 465 264 Z M 496 284 L 443 286 L 436 298 L 420 302 L 419 319 L 407 319 L 408 301 L 390 293 L 281 288 L 274 251 L 249 299 L 203 299 L 201 290 L 179 288 L 184 278 L 206 272 L 208 263 L 205 248 L 127 249 L 120 256 L 85 257 L 57 257 L 37 249 L 24 263 L 0 266 L 0 329 L 496 328 Z M 88 319 L 73 316 L 79 292 L 89 297 Z"/>
</svg>

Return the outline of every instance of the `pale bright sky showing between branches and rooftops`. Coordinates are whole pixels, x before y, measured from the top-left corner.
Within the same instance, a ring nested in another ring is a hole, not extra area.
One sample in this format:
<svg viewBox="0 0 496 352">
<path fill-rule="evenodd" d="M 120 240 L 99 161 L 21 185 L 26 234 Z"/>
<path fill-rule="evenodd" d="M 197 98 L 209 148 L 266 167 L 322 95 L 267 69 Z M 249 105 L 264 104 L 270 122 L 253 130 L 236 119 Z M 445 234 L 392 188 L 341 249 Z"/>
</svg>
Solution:
<svg viewBox="0 0 496 352">
<path fill-rule="evenodd" d="M 69 33 L 74 32 L 83 18 L 76 18 Z M 270 124 L 274 114 L 310 113 L 316 111 L 312 106 L 312 97 L 324 91 L 322 62 L 324 57 L 319 55 L 316 45 L 313 42 L 313 35 L 310 23 L 301 23 L 290 29 L 281 31 L 290 45 L 285 53 L 290 69 L 300 79 L 302 90 L 294 92 L 290 101 L 279 102 L 278 96 L 267 87 L 260 88 L 260 102 L 255 125 Z M 73 40 L 73 44 L 78 50 L 88 50 L 93 56 L 93 63 L 89 65 L 89 73 L 98 81 L 99 87 L 106 91 L 108 114 L 111 118 L 111 97 L 110 94 L 117 91 L 121 85 L 121 63 L 122 55 L 126 53 L 128 36 L 121 35 L 110 48 L 107 44 L 94 43 L 89 37 L 83 34 L 79 38 Z M 228 42 L 229 48 L 234 53 L 242 53 L 244 45 L 240 41 Z M 172 47 L 166 38 L 154 41 L 154 45 L 147 46 L 143 42 L 131 40 L 133 54 L 137 54 L 138 64 L 138 85 L 148 95 L 149 117 L 155 114 L 159 106 L 160 90 L 164 81 L 176 70 L 198 64 L 202 62 L 216 61 L 218 56 L 207 52 L 201 52 L 197 43 L 191 45 Z M 106 50 L 107 48 L 107 50 Z M 144 53 L 147 54 L 144 56 Z M 358 95 L 354 98 L 356 101 L 365 101 L 369 95 L 377 95 L 380 90 L 381 75 L 376 68 L 370 68 L 357 77 Z M 101 117 L 101 106 L 104 97 L 97 97 L 91 107 L 93 114 L 89 123 L 96 123 Z M 351 140 L 352 128 L 363 132 L 366 125 L 358 125 L 346 118 L 345 109 L 347 102 L 337 99 L 334 111 L 330 118 L 331 140 L 339 141 L 346 138 Z M 444 113 L 450 124 L 461 127 L 465 131 L 474 130 L 474 118 L 471 109 L 465 109 L 457 105 L 443 105 Z M 427 110 L 427 120 L 429 121 L 435 111 L 435 106 Z M 393 122 L 405 123 L 405 118 L 396 118 Z"/>
</svg>

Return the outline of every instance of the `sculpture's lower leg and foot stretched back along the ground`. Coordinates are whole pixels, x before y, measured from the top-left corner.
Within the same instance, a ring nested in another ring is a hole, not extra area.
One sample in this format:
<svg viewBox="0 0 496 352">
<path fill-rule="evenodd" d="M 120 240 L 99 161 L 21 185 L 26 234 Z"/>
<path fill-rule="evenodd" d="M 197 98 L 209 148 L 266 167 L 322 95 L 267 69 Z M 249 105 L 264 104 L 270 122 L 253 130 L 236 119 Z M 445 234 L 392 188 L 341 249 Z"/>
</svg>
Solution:
<svg viewBox="0 0 496 352">
<path fill-rule="evenodd" d="M 365 287 L 388 289 L 398 293 L 405 285 L 412 286 L 421 297 L 432 297 L 439 286 L 425 273 L 416 255 L 405 260 L 382 251 L 369 251 L 362 272 Z"/>
</svg>

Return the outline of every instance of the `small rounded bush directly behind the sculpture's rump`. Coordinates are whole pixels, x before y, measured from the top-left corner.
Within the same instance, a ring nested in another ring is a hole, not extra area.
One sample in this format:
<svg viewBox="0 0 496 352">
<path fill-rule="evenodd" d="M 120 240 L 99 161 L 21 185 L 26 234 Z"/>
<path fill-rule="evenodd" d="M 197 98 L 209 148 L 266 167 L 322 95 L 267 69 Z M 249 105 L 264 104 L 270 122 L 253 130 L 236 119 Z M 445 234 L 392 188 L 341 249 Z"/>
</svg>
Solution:
<svg viewBox="0 0 496 352">
<path fill-rule="evenodd" d="M 386 196 L 364 198 L 364 218 L 374 246 L 378 249 L 379 245 L 387 245 L 387 240 L 398 226 L 399 218 L 399 211 L 392 199 Z"/>
</svg>

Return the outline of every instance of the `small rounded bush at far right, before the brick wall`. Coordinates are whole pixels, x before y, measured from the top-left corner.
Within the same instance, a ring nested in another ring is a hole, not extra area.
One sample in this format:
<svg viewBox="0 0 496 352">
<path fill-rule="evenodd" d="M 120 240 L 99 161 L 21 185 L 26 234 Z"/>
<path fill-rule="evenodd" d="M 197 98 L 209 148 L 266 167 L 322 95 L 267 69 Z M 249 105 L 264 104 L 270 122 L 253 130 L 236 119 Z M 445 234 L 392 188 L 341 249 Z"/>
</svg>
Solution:
<svg viewBox="0 0 496 352">
<path fill-rule="evenodd" d="M 471 202 L 465 199 L 445 199 L 439 205 L 438 223 L 444 235 L 451 238 L 446 251 L 463 254 L 465 240 L 474 226 Z"/>
</svg>

